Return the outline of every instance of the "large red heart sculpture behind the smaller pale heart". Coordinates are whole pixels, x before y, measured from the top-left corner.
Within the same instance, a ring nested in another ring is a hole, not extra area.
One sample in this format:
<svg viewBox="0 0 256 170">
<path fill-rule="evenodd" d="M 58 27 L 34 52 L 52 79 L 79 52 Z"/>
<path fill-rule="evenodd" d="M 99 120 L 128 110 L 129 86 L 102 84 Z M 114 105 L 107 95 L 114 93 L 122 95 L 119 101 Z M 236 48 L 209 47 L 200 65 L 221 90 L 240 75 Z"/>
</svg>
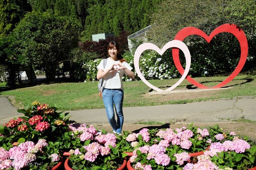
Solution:
<svg viewBox="0 0 256 170">
<path fill-rule="evenodd" d="M 224 85 L 226 85 L 227 83 L 229 83 L 230 81 L 232 81 L 233 78 L 235 78 L 239 74 L 239 72 L 242 70 L 242 68 L 244 67 L 244 64 L 247 59 L 247 54 L 248 54 L 248 43 L 247 43 L 246 36 L 245 36 L 244 32 L 242 31 L 242 29 L 240 29 L 238 26 L 236 26 L 234 24 L 223 24 L 223 25 L 217 27 L 215 30 L 213 30 L 213 32 L 209 36 L 207 36 L 206 33 L 204 33 L 200 29 L 197 29 L 195 27 L 186 27 L 186 28 L 180 30 L 174 38 L 175 40 L 183 41 L 189 35 L 199 35 L 199 36 L 203 37 L 209 43 L 215 35 L 217 35 L 218 33 L 222 33 L 222 32 L 232 33 L 234 36 L 236 36 L 236 38 L 238 39 L 238 41 L 240 43 L 241 56 L 240 56 L 238 65 L 237 65 L 236 69 L 232 72 L 232 74 L 230 74 L 229 77 L 226 78 L 226 80 L 224 80 L 221 83 L 217 84 L 216 86 L 212 87 L 213 89 L 221 88 Z M 177 49 L 177 48 L 172 49 L 172 57 L 173 57 L 174 64 L 175 64 L 176 68 L 178 69 L 180 74 L 183 75 L 184 68 L 182 67 L 182 65 L 180 63 L 179 49 Z M 191 78 L 189 75 L 187 75 L 186 80 L 201 89 L 210 89 L 210 87 L 207 87 L 201 83 L 198 83 L 193 78 Z"/>
</svg>

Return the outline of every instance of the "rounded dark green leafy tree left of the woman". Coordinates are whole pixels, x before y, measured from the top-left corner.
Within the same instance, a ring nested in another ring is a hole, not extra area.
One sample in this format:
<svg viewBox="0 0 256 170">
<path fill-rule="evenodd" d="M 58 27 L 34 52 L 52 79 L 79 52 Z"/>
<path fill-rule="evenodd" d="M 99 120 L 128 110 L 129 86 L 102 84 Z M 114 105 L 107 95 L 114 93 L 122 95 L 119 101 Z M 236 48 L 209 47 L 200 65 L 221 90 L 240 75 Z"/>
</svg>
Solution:
<svg viewBox="0 0 256 170">
<path fill-rule="evenodd" d="M 18 61 L 43 69 L 52 81 L 58 65 L 78 46 L 80 32 L 81 25 L 70 17 L 58 17 L 52 11 L 28 13 L 12 33 Z"/>
</svg>

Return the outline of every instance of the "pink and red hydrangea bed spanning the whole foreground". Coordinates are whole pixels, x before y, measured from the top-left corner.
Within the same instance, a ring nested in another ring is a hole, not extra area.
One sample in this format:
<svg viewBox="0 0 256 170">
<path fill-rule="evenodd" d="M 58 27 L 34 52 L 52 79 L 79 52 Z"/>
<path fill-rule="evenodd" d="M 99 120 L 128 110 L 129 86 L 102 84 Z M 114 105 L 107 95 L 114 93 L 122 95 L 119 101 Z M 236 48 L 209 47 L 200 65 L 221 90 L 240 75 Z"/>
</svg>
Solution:
<svg viewBox="0 0 256 170">
<path fill-rule="evenodd" d="M 0 126 L 0 169 L 50 169 L 65 152 L 72 169 L 250 169 L 256 145 L 218 125 L 147 129 L 123 135 L 69 120 L 35 101 L 23 117 Z M 14 143 L 18 143 L 14 146 Z M 69 154 L 67 152 L 69 151 Z"/>
</svg>

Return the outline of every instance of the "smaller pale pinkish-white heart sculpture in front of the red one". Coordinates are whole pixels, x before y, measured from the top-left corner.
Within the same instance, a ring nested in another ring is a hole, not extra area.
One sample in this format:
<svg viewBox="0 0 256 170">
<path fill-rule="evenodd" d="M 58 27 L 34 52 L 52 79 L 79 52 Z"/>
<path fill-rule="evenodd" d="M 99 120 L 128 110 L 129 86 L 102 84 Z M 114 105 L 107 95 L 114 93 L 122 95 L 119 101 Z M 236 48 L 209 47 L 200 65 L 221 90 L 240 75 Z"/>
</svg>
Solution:
<svg viewBox="0 0 256 170">
<path fill-rule="evenodd" d="M 177 81 L 177 83 L 175 83 L 174 85 L 172 85 L 171 87 L 169 87 L 166 90 L 162 90 L 159 89 L 155 86 L 153 86 L 151 83 L 149 83 L 145 77 L 142 75 L 142 73 L 140 72 L 140 66 L 139 66 L 139 60 L 140 60 L 140 55 L 143 53 L 143 51 L 145 50 L 155 50 L 157 51 L 157 53 L 159 53 L 161 56 L 163 55 L 163 53 L 171 47 L 176 47 L 179 48 L 181 51 L 183 51 L 185 58 L 186 58 L 186 68 L 184 70 L 184 73 L 182 75 L 182 77 L 180 78 L 180 80 Z M 149 87 L 151 87 L 152 89 L 156 90 L 157 92 L 163 92 L 163 91 L 171 91 L 173 90 L 175 87 L 177 87 L 187 76 L 187 74 L 189 73 L 189 69 L 190 69 L 190 65 L 191 65 L 191 57 L 190 57 L 190 52 L 189 49 L 187 48 L 186 44 L 184 44 L 184 42 L 179 41 L 179 40 L 172 40 L 169 41 L 168 43 L 165 44 L 165 46 L 163 46 L 162 50 L 160 50 L 156 45 L 152 44 L 152 43 L 143 43 L 141 44 L 135 51 L 134 54 L 134 67 L 135 70 L 138 74 L 138 76 L 140 77 L 140 79 Z"/>
</svg>

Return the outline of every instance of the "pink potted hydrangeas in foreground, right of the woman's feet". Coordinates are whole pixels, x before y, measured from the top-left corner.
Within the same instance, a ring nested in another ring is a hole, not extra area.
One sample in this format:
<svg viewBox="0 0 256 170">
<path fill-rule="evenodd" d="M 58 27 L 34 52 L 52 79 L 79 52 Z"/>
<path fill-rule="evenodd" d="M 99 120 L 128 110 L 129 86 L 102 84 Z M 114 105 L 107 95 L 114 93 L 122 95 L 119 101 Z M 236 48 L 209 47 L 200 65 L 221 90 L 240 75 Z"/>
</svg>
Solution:
<svg viewBox="0 0 256 170">
<path fill-rule="evenodd" d="M 192 125 L 175 130 L 142 129 L 137 134 L 126 135 L 126 141 L 133 148 L 129 161 L 132 169 L 248 169 L 256 166 L 255 144 L 234 132 L 224 133 L 218 125 L 209 130 Z M 190 156 L 197 152 L 199 156 Z"/>
</svg>

